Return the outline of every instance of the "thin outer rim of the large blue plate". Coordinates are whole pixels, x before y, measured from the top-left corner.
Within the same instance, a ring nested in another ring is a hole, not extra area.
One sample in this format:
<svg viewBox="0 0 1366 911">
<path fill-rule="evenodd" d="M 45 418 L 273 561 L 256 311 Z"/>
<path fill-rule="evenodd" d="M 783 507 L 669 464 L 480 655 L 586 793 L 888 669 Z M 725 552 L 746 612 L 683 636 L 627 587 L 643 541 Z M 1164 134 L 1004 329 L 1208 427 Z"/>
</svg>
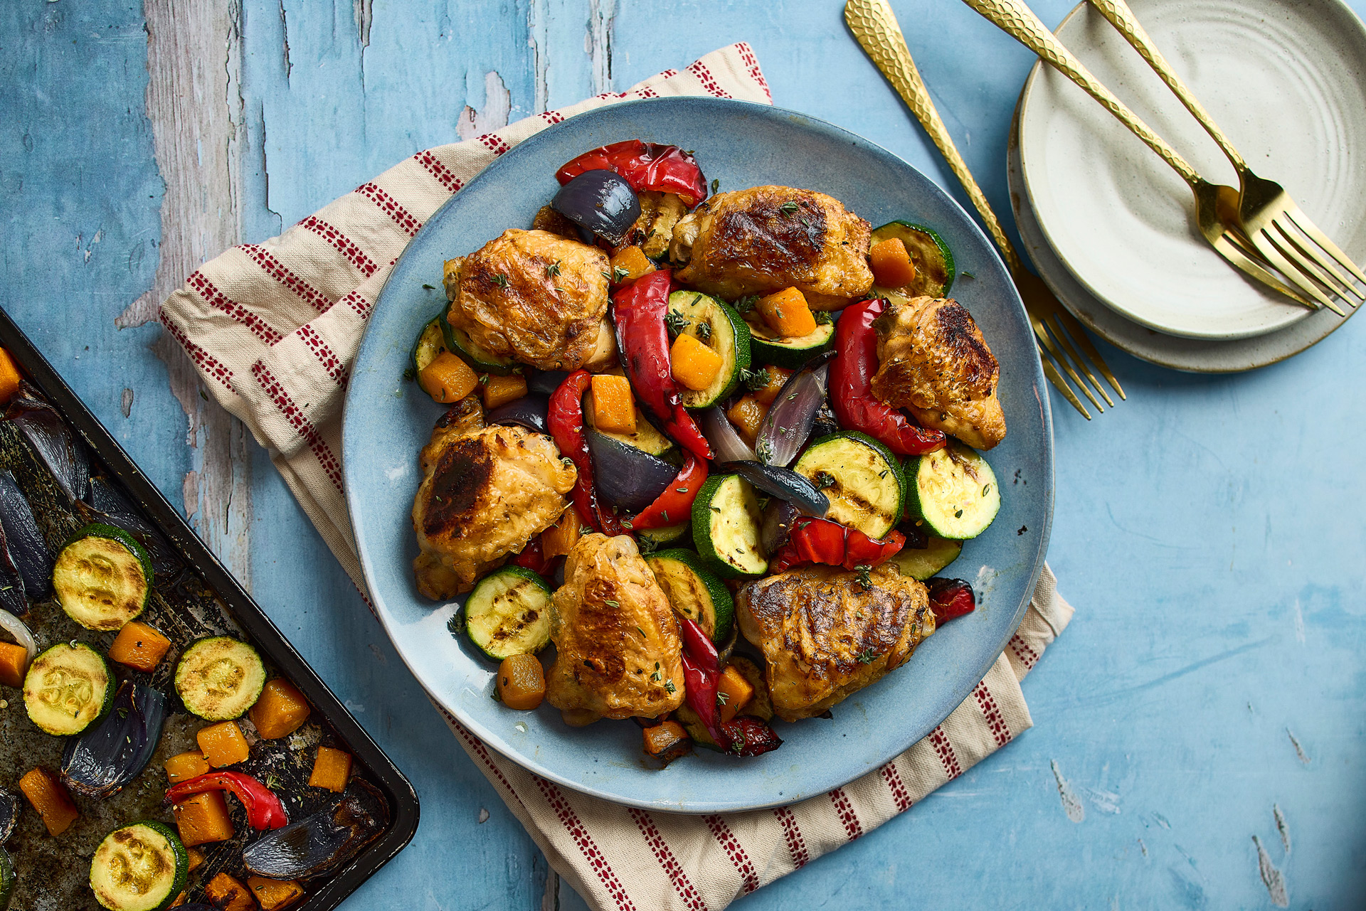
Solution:
<svg viewBox="0 0 1366 911">
<path fill-rule="evenodd" d="M 702 107 L 710 107 L 710 108 L 717 108 L 717 109 L 731 108 L 731 109 L 744 111 L 744 112 L 747 112 L 750 115 L 757 115 L 757 116 L 764 116 L 764 117 L 772 117 L 772 119 L 785 120 L 790 124 L 795 124 L 795 126 L 798 126 L 802 130 L 809 130 L 809 131 L 816 131 L 816 132 L 824 132 L 824 134 L 831 135 L 835 139 L 851 143 L 854 146 L 862 146 L 866 150 L 870 150 L 876 156 L 882 156 L 882 157 L 885 157 L 885 158 L 888 158 L 891 161 L 895 161 L 902 168 L 908 168 L 912 172 L 918 173 L 919 176 L 922 176 L 926 180 L 926 183 L 929 183 L 934 188 L 936 193 L 938 193 L 941 195 L 943 202 L 948 204 L 953 210 L 956 210 L 959 213 L 959 216 L 962 217 L 962 223 L 966 225 L 966 229 L 970 231 L 970 232 L 973 232 L 973 234 L 975 234 L 975 236 L 979 240 L 979 243 L 982 244 L 982 247 L 986 249 L 986 250 L 989 250 L 989 253 L 990 253 L 990 260 L 989 260 L 990 268 L 997 269 L 1000 272 L 1000 276 L 1003 276 L 1003 279 L 1004 279 L 1004 287 L 1007 290 L 1005 299 L 1008 300 L 1008 305 L 1012 306 L 1016 310 L 1018 316 L 1023 321 L 1027 322 L 1027 316 L 1024 314 L 1024 305 L 1023 305 L 1023 302 L 1022 302 L 1022 299 L 1019 296 L 1019 292 L 1015 290 L 1014 281 L 1009 280 L 1009 272 L 1005 268 L 1005 264 L 1001 260 L 1000 253 L 997 251 L 996 246 L 990 242 L 990 239 L 982 231 L 982 228 L 977 223 L 977 220 L 973 219 L 971 216 L 968 216 L 968 213 L 962 208 L 962 205 L 959 205 L 959 202 L 947 190 L 944 190 L 944 187 L 940 186 L 937 180 L 934 180 L 929 175 L 925 175 L 923 172 L 921 172 L 919 169 L 917 169 L 912 164 L 910 164 L 908 161 L 906 161 L 904 158 L 902 158 L 896 153 L 891 152 L 889 149 L 887 149 L 887 148 L 884 148 L 884 146 L 873 142 L 872 139 L 863 138 L 863 137 L 861 137 L 861 135 L 858 135 L 858 134 L 855 134 L 855 132 L 852 132 L 850 130 L 846 130 L 846 128 L 843 128 L 840 126 L 832 124 L 832 123 L 829 123 L 826 120 L 822 120 L 820 117 L 814 117 L 811 115 L 802 113 L 802 112 L 798 112 L 798 111 L 791 111 L 791 109 L 787 109 L 787 108 L 779 108 L 779 107 L 775 107 L 775 105 L 757 104 L 757 102 L 749 102 L 749 101 L 739 101 L 739 100 L 734 100 L 734 98 L 714 98 L 714 97 L 706 97 L 706 96 L 671 96 L 671 97 L 664 97 L 664 98 L 642 98 L 642 100 L 620 101 L 620 102 L 616 102 L 616 104 L 612 104 L 612 105 L 604 105 L 601 108 L 594 108 L 594 109 L 590 109 L 590 111 L 585 111 L 585 112 L 582 112 L 579 115 L 575 115 L 574 117 L 567 117 L 566 120 L 561 120 L 560 123 L 552 124 L 552 126 L 546 127 L 545 130 L 541 130 L 541 131 L 538 131 L 538 132 L 527 137 L 526 139 L 523 139 L 522 142 L 519 142 L 516 146 L 514 146 L 511 150 L 508 150 L 507 153 L 499 156 L 492 163 L 489 163 L 488 167 L 485 167 L 474 178 L 471 178 L 464 184 L 464 187 L 462 187 L 462 188 L 469 188 L 470 186 L 473 186 L 475 182 L 479 182 L 479 180 L 485 180 L 486 182 L 486 180 L 496 179 L 497 175 L 507 167 L 507 165 L 503 165 L 503 163 L 507 161 L 510 156 L 516 156 L 519 150 L 525 150 L 525 149 L 530 149 L 531 152 L 534 152 L 535 148 L 537 148 L 537 145 L 540 145 L 541 142 L 545 142 L 545 137 L 546 135 L 553 135 L 553 132 L 559 127 L 561 127 L 563 124 L 567 124 L 567 123 L 570 123 L 572 120 L 576 120 L 579 117 L 611 116 L 611 113 L 615 113 L 615 112 L 619 112 L 619 111 L 631 109 L 631 108 L 637 108 L 637 107 L 641 107 L 641 105 L 656 105 L 656 107 L 658 107 L 658 105 L 669 105 L 669 104 L 702 105 Z M 522 152 L 520 154 L 525 156 L 525 154 L 530 154 L 530 153 L 529 152 Z M 414 238 L 408 240 L 408 244 L 403 249 L 403 253 L 395 261 L 393 268 L 389 270 L 389 275 L 385 277 L 385 281 L 381 285 L 378 295 L 376 296 L 376 302 L 374 302 L 374 306 L 372 307 L 370 318 L 366 320 L 365 333 L 362 335 L 359 347 L 357 348 L 357 359 L 355 359 L 355 362 L 352 365 L 352 370 L 355 369 L 355 366 L 359 366 L 361 359 L 362 359 L 362 356 L 366 352 L 366 348 L 367 348 L 366 343 L 370 339 L 370 331 L 376 325 L 374 314 L 382 306 L 384 299 L 385 299 L 385 292 L 388 291 L 389 283 L 393 279 L 393 276 L 399 273 L 399 265 L 403 262 L 403 258 L 407 257 L 408 253 L 414 249 L 414 242 L 421 235 L 421 231 L 426 229 L 426 227 L 429 224 L 432 224 L 433 221 L 437 220 L 437 216 L 441 212 L 444 212 L 448 206 L 454 205 L 455 199 L 458 197 L 459 197 L 459 193 L 452 194 L 449 199 L 447 199 L 444 204 L 441 204 L 441 206 L 436 212 L 433 212 L 432 216 L 428 217 L 428 220 L 423 223 L 423 227 L 419 228 L 418 235 L 414 235 Z M 1044 380 L 1042 366 L 1040 365 L 1040 362 L 1038 362 L 1037 358 L 1033 359 L 1033 377 L 1029 377 L 1027 380 L 1026 378 L 1020 380 L 1022 389 L 1024 388 L 1024 384 L 1029 380 L 1033 380 L 1033 388 L 1034 388 L 1034 392 L 1035 392 L 1037 404 L 1040 407 L 1040 417 L 1041 417 L 1042 430 L 1044 430 L 1044 433 L 1042 433 L 1042 437 L 1044 437 L 1044 451 L 1041 453 L 1041 462 L 1042 462 L 1042 466 L 1044 466 L 1042 478 L 1041 478 L 1041 482 L 1044 483 L 1044 497 L 1042 497 L 1044 499 L 1044 527 L 1041 529 L 1041 533 L 1040 533 L 1040 535 L 1037 538 L 1037 545 L 1034 546 L 1033 553 L 1030 555 L 1031 568 L 1030 568 L 1030 572 L 1029 572 L 1029 576 L 1027 576 L 1027 585 L 1024 586 L 1024 591 L 1023 591 L 1023 595 L 1020 598 L 1020 602 L 1018 605 L 1015 605 L 1015 609 L 1012 612 L 1012 621 L 1009 624 L 1007 624 L 1007 631 L 1000 636 L 1000 642 L 996 643 L 994 647 L 992 647 L 992 649 L 984 649 L 982 650 L 982 656 L 984 657 L 978 661 L 977 665 L 973 665 L 973 672 L 963 675 L 964 680 L 967 677 L 971 677 L 971 682 L 967 686 L 960 687 L 963 690 L 963 692 L 962 692 L 960 697 L 959 697 L 959 694 L 956 691 L 953 691 L 953 692 L 949 694 L 948 699 L 951 701 L 951 705 L 948 706 L 948 709 L 944 712 L 943 717 L 940 717 L 936 724 L 943 723 L 943 720 L 945 717 L 948 717 L 959 705 L 962 705 L 962 702 L 964 699 L 967 699 L 971 695 L 973 688 L 975 686 L 978 686 L 978 682 L 982 677 L 985 677 L 985 675 L 988 673 L 988 671 L 992 668 L 992 665 L 997 661 L 997 658 L 1000 657 L 1000 654 L 1005 649 L 1007 643 L 1009 642 L 1009 638 L 1015 634 L 1016 628 L 1019 627 L 1019 623 L 1023 620 L 1023 616 L 1024 616 L 1024 613 L 1029 609 L 1034 587 L 1038 583 L 1040 575 L 1042 574 L 1045 559 L 1046 559 L 1046 555 L 1048 555 L 1048 545 L 1049 545 L 1049 539 L 1050 539 L 1050 535 L 1052 535 L 1052 526 L 1053 526 L 1053 509 L 1055 509 L 1055 496 L 1056 496 L 1056 458 L 1055 458 L 1055 436 L 1053 436 L 1055 430 L 1053 430 L 1052 406 L 1050 406 L 1050 402 L 1049 402 L 1049 396 L 1048 396 L 1048 393 L 1045 391 L 1046 387 L 1044 385 L 1045 380 Z M 346 459 L 346 451 L 348 448 L 347 447 L 347 440 L 350 437 L 348 428 L 351 428 L 351 421 L 348 418 L 352 414 L 350 406 L 351 406 L 351 396 L 354 393 L 357 393 L 357 385 L 355 384 L 348 384 L 347 393 L 346 393 L 346 400 L 343 403 L 343 412 L 342 412 L 342 421 L 343 421 L 343 425 L 342 425 L 343 493 L 344 493 L 344 500 L 346 500 L 346 505 L 347 505 L 347 516 L 351 520 L 351 526 L 352 526 L 352 530 L 354 530 L 357 559 L 358 559 L 358 561 L 361 564 L 361 572 L 362 572 L 362 576 L 365 579 L 370 601 L 372 601 L 372 604 L 374 606 L 374 615 L 380 620 L 380 624 L 384 628 L 385 635 L 388 635 L 389 641 L 393 643 L 395 651 L 399 654 L 399 658 L 403 661 L 404 667 L 414 676 L 414 679 L 422 687 L 423 692 L 428 695 L 429 701 L 438 709 L 438 712 L 441 712 L 441 714 L 445 716 L 448 720 L 454 720 L 464 731 L 467 731 L 469 733 L 471 733 L 473 736 L 475 736 L 484 746 L 492 747 L 494 751 L 497 751 L 500 755 L 505 757 L 511 762 L 516 763 L 519 768 L 522 768 L 522 769 L 525 769 L 527 772 L 531 772 L 534 774 L 538 774 L 538 776 L 541 776 L 544 779 L 548 779 L 548 780 L 550 780 L 550 781 L 553 781 L 553 783 L 556 783 L 559 785 L 570 788 L 571 791 L 574 791 L 576 794 L 585 794 L 585 795 L 594 796 L 594 798 L 598 798 L 598 799 L 602 799 L 602 800 L 608 800 L 611 803 L 616 803 L 616 804 L 622 804 L 622 806 L 631 806 L 631 807 L 638 807 L 638 809 L 642 809 L 642 810 L 652 810 L 652 811 L 678 813 L 678 814 L 686 814 L 686 815 L 697 815 L 697 814 L 706 814 L 706 813 L 739 813 L 739 811 L 747 811 L 747 810 L 764 810 L 764 809 L 770 809 L 770 807 L 777 807 L 777 806 L 788 806 L 788 804 L 805 800 L 807 798 L 820 795 L 822 792 L 828 792 L 832 788 L 843 787 L 843 785 L 848 784 L 850 781 L 855 781 L 855 780 L 863 777 L 865 774 L 867 774 L 870 772 L 874 772 L 876 769 L 881 768 L 887 762 L 893 761 L 897 755 L 900 755 L 902 753 L 904 753 L 906 750 L 908 750 L 911 746 L 914 746 L 915 743 L 918 743 L 921 739 L 923 739 L 923 736 L 926 736 L 929 733 L 929 731 L 933 731 L 934 725 L 930 725 L 930 728 L 928 731 L 925 731 L 919 736 L 908 740 L 907 743 L 902 744 L 896 750 L 896 753 L 893 753 L 892 755 L 881 758 L 877 762 L 863 763 L 859 768 L 852 769 L 847 776 L 846 776 L 846 773 L 840 772 L 840 773 L 835 773 L 833 776 L 828 776 L 828 777 L 824 777 L 824 779 L 810 780 L 810 781 L 805 783 L 802 788 L 794 791 L 794 794 L 791 794 L 791 795 L 783 795 L 783 796 L 776 798 L 776 799 L 764 799 L 764 800 L 758 800 L 758 802 L 753 802 L 753 800 L 746 802 L 743 799 L 739 799 L 739 800 L 717 800 L 717 799 L 710 799 L 710 800 L 687 800 L 687 802 L 683 802 L 683 803 L 678 803 L 678 802 L 667 802 L 667 800 L 641 799 L 641 798 L 634 798 L 634 796 L 630 796 L 630 795 L 619 795 L 619 794 L 613 794 L 609 789 L 605 789 L 602 787 L 597 787 L 597 785 L 594 785 L 591 783 L 585 783 L 585 781 L 581 781 L 581 780 L 570 779 L 566 774 L 557 772 L 555 768 L 546 766 L 546 765 L 544 765 L 541 762 L 537 762 L 535 759 L 533 759 L 531 757 L 529 757 L 529 755 L 526 755 L 523 753 L 518 753 L 515 748 L 512 748 L 511 744 L 507 743 L 505 738 L 503 738 L 499 732 L 488 729 L 477 718 L 466 718 L 466 717 L 463 717 L 462 713 L 458 710 L 458 706 L 447 705 L 443 699 L 440 699 L 436 694 L 433 694 L 428 688 L 428 686 L 425 684 L 423 676 L 417 671 L 417 668 L 414 667 L 413 661 L 408 660 L 408 656 L 406 654 L 404 649 L 399 643 L 399 639 L 393 634 L 392 626 L 393 626 L 393 623 L 396 620 L 389 616 L 389 609 L 385 606 L 382 595 L 380 595 L 377 593 L 377 589 L 376 589 L 374 582 L 373 582 L 373 579 L 374 579 L 374 571 L 373 571 L 373 561 L 370 559 L 372 555 L 369 553 L 367 548 L 365 548 L 362 545 L 363 535 L 359 533 L 359 530 L 363 527 L 365 522 L 363 522 L 363 519 L 358 520 L 358 516 L 363 515 L 363 509 L 361 509 L 359 508 L 361 504 L 357 503 L 355 488 L 348 482 L 348 479 L 350 479 L 350 471 L 347 468 L 348 460 Z M 938 714 L 938 712 L 936 712 L 936 714 Z"/>
</svg>

